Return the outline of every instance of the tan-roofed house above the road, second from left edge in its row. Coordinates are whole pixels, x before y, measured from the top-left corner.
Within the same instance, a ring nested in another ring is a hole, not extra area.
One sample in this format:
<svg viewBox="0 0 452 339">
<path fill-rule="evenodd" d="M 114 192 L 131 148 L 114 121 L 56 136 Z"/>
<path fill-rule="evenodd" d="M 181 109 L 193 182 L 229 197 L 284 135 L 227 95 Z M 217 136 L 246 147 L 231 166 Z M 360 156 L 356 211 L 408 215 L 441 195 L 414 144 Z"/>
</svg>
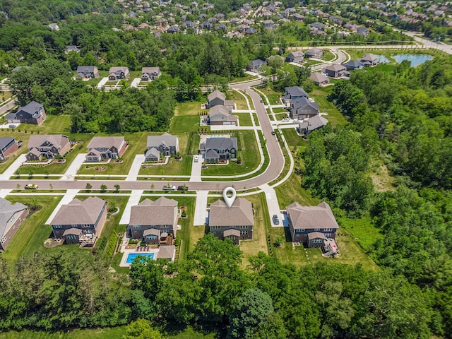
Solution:
<svg viewBox="0 0 452 339">
<path fill-rule="evenodd" d="M 53 159 L 64 156 L 71 150 L 71 142 L 68 136 L 62 134 L 32 134 L 28 141 L 28 153 L 25 155 L 28 161 L 42 160 L 43 157 Z"/>
</svg>

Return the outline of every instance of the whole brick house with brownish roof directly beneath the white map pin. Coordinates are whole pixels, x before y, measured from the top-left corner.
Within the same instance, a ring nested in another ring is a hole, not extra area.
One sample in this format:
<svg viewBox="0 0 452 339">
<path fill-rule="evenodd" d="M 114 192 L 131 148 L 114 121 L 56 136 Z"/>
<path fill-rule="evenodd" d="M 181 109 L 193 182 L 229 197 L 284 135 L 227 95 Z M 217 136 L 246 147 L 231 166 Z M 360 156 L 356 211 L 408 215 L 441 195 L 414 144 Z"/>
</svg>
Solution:
<svg viewBox="0 0 452 339">
<path fill-rule="evenodd" d="M 222 200 L 210 204 L 209 230 L 220 239 L 229 238 L 235 245 L 253 239 L 253 206 L 245 198 L 237 198 L 231 207 Z"/>
</svg>

